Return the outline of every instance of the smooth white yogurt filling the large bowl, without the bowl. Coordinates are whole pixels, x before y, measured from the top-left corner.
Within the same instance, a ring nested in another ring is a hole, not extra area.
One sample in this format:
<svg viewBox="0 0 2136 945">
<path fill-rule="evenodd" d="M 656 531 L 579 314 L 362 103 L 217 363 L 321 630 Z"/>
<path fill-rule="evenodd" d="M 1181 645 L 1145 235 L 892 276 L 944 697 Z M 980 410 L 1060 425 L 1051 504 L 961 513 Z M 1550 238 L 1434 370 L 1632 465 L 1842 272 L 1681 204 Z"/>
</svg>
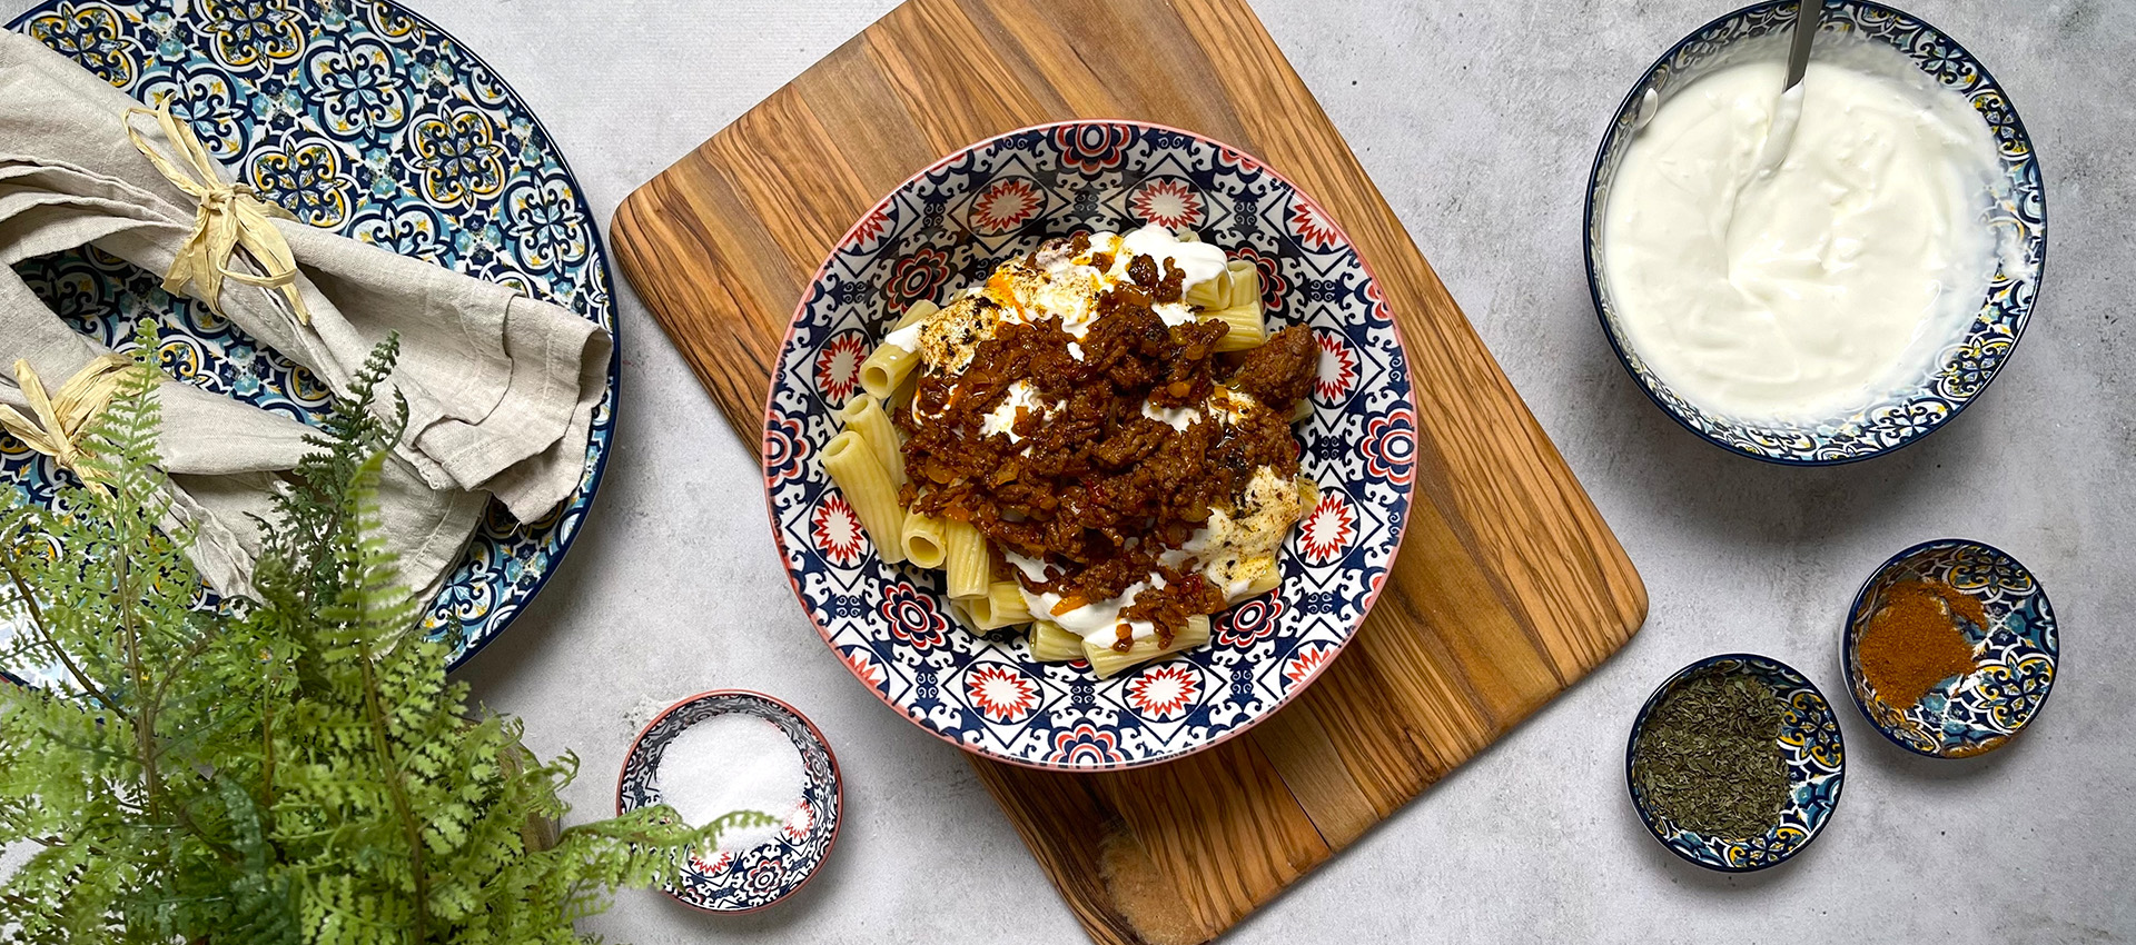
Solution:
<svg viewBox="0 0 2136 945">
<path fill-rule="evenodd" d="M 1816 55 L 1788 98 L 1779 60 L 1670 96 L 1604 211 L 1625 339 L 1717 414 L 1858 410 L 1925 373 L 1995 275 L 1986 122 L 1892 49 L 1833 41 Z"/>
</svg>

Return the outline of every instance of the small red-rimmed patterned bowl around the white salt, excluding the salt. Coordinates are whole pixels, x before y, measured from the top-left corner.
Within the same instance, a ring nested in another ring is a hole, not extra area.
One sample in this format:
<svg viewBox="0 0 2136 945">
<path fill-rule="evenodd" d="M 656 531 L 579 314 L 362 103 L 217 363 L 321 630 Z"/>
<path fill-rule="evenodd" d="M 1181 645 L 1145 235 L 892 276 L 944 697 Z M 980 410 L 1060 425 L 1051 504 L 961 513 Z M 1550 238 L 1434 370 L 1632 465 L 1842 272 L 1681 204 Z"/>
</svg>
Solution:
<svg viewBox="0 0 2136 945">
<path fill-rule="evenodd" d="M 801 806 L 795 811 L 765 811 L 786 815 L 780 834 L 741 853 L 722 851 L 713 858 L 690 855 L 677 885 L 664 887 L 677 902 L 707 913 L 752 913 L 792 896 L 837 843 L 837 819 L 846 806 L 846 785 L 837 776 L 837 757 L 831 742 L 822 738 L 814 721 L 807 721 L 795 706 L 765 693 L 745 689 L 713 689 L 681 700 L 645 725 L 624 755 L 624 772 L 615 779 L 615 813 L 630 813 L 641 806 L 660 804 L 660 753 L 681 730 L 716 715 L 752 715 L 786 732 L 801 753 L 801 770 L 807 787 L 801 789 Z"/>
</svg>

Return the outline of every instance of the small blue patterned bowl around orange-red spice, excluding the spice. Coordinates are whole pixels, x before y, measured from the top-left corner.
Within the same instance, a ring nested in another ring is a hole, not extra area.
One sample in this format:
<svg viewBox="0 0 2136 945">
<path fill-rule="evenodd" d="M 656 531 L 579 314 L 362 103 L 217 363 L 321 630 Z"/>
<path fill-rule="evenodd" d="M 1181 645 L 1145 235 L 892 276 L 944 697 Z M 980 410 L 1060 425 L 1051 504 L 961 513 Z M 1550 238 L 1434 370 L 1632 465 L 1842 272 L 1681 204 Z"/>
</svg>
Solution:
<svg viewBox="0 0 2136 945">
<path fill-rule="evenodd" d="M 1989 614 L 1986 627 L 1963 625 L 1974 644 L 1974 670 L 1903 708 L 1878 700 L 1856 653 L 1869 614 L 1899 580 L 1950 584 Z M 2040 715 L 2055 687 L 2059 655 L 2055 608 L 2031 572 L 2001 548 L 1957 538 L 1922 542 L 1884 561 L 1854 595 L 1839 638 L 1839 668 L 1854 706 L 1884 738 L 1929 757 L 1974 757 L 2004 747 Z"/>
</svg>

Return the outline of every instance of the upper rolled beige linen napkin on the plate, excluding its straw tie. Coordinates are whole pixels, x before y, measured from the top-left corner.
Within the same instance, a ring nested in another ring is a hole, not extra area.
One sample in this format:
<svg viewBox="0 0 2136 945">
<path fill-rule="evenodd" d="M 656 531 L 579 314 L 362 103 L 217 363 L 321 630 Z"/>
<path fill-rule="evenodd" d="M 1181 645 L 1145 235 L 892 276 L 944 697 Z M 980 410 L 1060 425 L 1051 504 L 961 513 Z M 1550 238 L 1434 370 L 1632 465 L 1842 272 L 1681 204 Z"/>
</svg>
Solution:
<svg viewBox="0 0 2136 945">
<path fill-rule="evenodd" d="M 135 147 L 128 122 L 162 154 L 182 154 L 154 122 L 128 117 L 137 105 L 43 43 L 0 32 L 0 245 L 34 256 L 92 243 L 171 271 L 199 201 Z M 295 220 L 273 228 L 295 254 L 308 324 L 267 288 L 226 282 L 209 303 L 335 393 L 399 333 L 391 386 L 408 401 L 408 437 L 397 452 L 431 488 L 496 493 L 521 520 L 577 488 L 607 382 L 607 331 L 513 288 Z"/>
</svg>

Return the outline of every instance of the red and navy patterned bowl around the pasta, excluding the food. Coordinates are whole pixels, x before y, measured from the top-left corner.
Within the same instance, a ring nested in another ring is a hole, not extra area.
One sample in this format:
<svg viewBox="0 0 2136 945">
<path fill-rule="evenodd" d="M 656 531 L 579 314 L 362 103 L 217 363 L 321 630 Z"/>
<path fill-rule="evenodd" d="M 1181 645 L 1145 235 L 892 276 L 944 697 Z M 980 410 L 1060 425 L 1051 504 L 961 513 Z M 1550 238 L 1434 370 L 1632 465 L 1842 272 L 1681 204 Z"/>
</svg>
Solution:
<svg viewBox="0 0 2136 945">
<path fill-rule="evenodd" d="M 1320 503 L 1282 552 L 1284 582 L 1213 621 L 1213 644 L 1098 680 L 1015 640 L 957 627 L 940 574 L 884 565 L 816 454 L 859 356 L 906 305 L 985 282 L 1077 230 L 1192 222 L 1260 269 L 1269 320 L 1320 339 L 1297 427 Z M 1393 316 L 1348 237 L 1252 156 L 1126 122 L 1027 128 L 951 154 L 897 188 L 824 260 L 771 378 L 765 488 L 795 593 L 878 698 L 983 755 L 1130 768 L 1205 749 L 1269 715 L 1350 640 L 1401 540 L 1416 412 Z"/>
</svg>

